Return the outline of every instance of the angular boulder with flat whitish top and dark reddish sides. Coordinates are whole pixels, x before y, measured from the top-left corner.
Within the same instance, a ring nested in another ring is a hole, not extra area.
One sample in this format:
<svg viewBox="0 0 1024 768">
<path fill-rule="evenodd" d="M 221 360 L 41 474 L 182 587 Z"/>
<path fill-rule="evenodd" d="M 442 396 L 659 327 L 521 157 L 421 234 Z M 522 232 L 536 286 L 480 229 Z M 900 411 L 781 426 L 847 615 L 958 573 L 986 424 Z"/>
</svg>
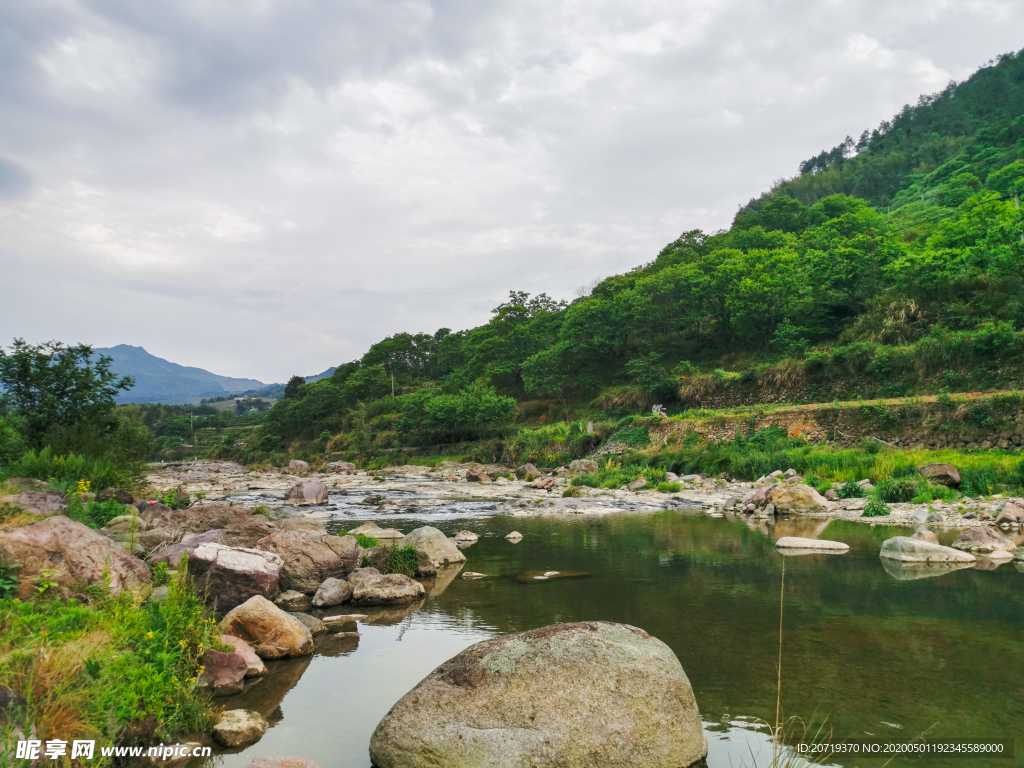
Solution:
<svg viewBox="0 0 1024 768">
<path fill-rule="evenodd" d="M 197 591 L 221 613 L 256 595 L 276 597 L 284 565 L 271 552 L 223 544 L 201 544 L 188 554 Z"/>
</svg>

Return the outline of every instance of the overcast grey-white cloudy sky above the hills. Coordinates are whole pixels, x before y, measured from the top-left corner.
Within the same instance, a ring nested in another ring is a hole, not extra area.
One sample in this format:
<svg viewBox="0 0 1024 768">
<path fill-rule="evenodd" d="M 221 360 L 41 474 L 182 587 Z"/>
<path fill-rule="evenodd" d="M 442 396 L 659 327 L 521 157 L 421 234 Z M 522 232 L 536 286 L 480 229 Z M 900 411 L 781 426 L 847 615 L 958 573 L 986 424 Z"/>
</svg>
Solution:
<svg viewBox="0 0 1024 768">
<path fill-rule="evenodd" d="M 0 344 L 273 382 L 571 299 L 1022 31 L 1019 0 L 0 0 Z"/>
</svg>

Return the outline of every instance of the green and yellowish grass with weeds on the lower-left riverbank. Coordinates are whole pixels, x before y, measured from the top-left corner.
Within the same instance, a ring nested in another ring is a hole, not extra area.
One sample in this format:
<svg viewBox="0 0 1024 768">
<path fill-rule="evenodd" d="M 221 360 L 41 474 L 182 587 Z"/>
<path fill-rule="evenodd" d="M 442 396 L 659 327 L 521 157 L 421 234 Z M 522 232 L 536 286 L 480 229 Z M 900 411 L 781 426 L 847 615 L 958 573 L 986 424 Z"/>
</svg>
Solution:
<svg viewBox="0 0 1024 768">
<path fill-rule="evenodd" d="M 0 685 L 28 700 L 3 735 L 34 726 L 43 740 L 93 738 L 99 746 L 208 730 L 210 701 L 197 677 L 216 625 L 185 568 L 168 586 L 161 603 L 98 586 L 67 601 L 0 600 Z M 98 749 L 96 761 L 110 765 Z"/>
</svg>

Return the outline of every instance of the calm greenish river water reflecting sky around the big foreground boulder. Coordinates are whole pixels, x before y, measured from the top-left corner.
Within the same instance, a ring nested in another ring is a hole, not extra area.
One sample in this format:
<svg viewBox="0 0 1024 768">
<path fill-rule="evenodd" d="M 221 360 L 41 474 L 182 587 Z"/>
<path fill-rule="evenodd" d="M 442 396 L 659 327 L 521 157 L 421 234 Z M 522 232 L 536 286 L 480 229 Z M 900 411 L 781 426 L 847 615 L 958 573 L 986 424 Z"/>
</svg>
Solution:
<svg viewBox="0 0 1024 768">
<path fill-rule="evenodd" d="M 422 510 L 374 517 L 367 506 L 342 504 L 331 527 L 423 524 Z M 328 768 L 368 768 L 379 720 L 445 659 L 496 634 L 605 620 L 640 627 L 679 656 L 706 721 L 710 768 L 767 765 L 771 748 L 758 723 L 775 720 L 783 565 L 784 717 L 826 719 L 843 738 L 905 740 L 926 730 L 932 738 L 1013 737 L 1024 755 L 1024 572 L 1015 563 L 887 568 L 881 543 L 909 531 L 815 520 L 759 527 L 692 511 L 513 518 L 449 507 L 431 524 L 449 536 L 480 535 L 464 550 L 464 569 L 486 578 L 428 581 L 422 605 L 377 612 L 357 638 L 322 639 L 312 658 L 268 664 L 267 679 L 222 702 L 256 709 L 272 727 L 212 764 L 242 768 L 260 756 L 297 755 Z M 512 529 L 523 534 L 520 543 L 505 541 Z M 783 557 L 772 545 L 780 536 L 843 541 L 851 550 Z M 573 572 L 532 578 L 551 570 Z"/>
</svg>

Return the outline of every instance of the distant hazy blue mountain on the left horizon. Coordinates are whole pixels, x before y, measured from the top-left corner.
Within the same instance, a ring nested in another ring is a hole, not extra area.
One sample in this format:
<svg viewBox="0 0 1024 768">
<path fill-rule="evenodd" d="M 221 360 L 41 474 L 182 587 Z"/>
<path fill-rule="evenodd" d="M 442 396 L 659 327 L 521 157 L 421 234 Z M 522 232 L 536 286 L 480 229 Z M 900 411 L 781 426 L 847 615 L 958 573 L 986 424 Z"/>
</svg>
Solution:
<svg viewBox="0 0 1024 768">
<path fill-rule="evenodd" d="M 242 393 L 265 386 L 255 379 L 232 379 L 201 368 L 179 366 L 129 344 L 94 351 L 112 357 L 111 369 L 121 376 L 135 378 L 135 386 L 122 394 L 119 402 L 198 402 L 202 397 Z"/>
</svg>

